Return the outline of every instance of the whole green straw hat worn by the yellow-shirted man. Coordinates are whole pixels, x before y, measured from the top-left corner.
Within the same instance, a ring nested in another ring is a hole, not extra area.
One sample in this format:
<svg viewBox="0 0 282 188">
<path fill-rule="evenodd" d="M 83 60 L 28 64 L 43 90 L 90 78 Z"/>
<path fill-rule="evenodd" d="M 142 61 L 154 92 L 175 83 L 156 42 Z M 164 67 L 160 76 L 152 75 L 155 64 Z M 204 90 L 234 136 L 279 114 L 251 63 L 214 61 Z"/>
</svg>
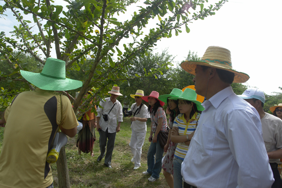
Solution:
<svg viewBox="0 0 282 188">
<path fill-rule="evenodd" d="M 41 73 L 21 70 L 22 76 L 37 88 L 67 91 L 82 87 L 82 81 L 66 78 L 66 62 L 48 57 Z"/>
</svg>

